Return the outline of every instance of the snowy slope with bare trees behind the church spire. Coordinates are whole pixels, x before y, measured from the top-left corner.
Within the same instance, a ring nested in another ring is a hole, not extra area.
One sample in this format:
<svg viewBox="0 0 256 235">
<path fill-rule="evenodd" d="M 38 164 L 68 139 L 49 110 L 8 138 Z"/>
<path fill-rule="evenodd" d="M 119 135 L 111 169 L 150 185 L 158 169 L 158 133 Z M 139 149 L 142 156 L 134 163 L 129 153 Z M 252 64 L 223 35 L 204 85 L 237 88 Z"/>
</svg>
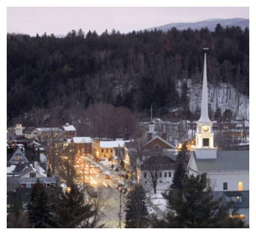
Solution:
<svg viewBox="0 0 256 235">
<path fill-rule="evenodd" d="M 179 80 L 178 82 L 179 93 L 181 93 L 181 87 L 184 81 L 186 80 Z M 202 83 L 195 83 L 188 79 L 187 85 L 190 100 L 189 109 L 194 112 L 197 106 L 199 109 L 201 107 Z M 208 84 L 208 104 L 210 104 L 214 112 L 218 107 L 221 110 L 221 114 L 226 109 L 230 109 L 236 120 L 249 120 L 249 97 L 240 94 L 229 84 L 220 83 L 219 86 Z"/>
</svg>

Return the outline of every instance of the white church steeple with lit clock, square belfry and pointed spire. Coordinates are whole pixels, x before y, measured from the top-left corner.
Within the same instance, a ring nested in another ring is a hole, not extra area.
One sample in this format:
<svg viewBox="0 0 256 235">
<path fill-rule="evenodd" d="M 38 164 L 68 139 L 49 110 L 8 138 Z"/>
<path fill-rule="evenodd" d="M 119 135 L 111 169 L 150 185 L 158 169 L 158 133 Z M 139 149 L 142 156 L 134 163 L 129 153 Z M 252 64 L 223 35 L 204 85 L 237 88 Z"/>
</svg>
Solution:
<svg viewBox="0 0 256 235">
<path fill-rule="evenodd" d="M 201 116 L 197 121 L 195 132 L 195 154 L 197 158 L 213 159 L 217 157 L 217 148 L 214 147 L 213 123 L 208 115 L 208 89 L 206 71 L 206 53 L 204 54 L 203 88 L 201 100 Z"/>
</svg>

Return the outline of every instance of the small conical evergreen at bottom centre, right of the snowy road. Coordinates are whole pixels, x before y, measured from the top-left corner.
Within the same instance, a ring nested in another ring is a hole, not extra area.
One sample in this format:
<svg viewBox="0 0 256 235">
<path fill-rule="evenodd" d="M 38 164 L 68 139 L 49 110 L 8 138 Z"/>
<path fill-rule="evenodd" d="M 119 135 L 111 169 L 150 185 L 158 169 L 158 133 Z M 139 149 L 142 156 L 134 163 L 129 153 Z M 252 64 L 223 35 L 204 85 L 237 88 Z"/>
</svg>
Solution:
<svg viewBox="0 0 256 235">
<path fill-rule="evenodd" d="M 125 228 L 147 228 L 149 226 L 146 196 L 142 186 L 135 187 L 125 203 Z"/>
</svg>

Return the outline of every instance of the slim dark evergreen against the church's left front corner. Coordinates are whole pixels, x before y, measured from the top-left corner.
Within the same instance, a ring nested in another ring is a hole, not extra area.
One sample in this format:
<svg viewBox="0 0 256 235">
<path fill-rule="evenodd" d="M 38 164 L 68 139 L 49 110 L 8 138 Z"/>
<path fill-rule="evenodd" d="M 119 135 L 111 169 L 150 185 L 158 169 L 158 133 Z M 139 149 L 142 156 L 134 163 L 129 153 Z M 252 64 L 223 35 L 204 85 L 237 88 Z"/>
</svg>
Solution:
<svg viewBox="0 0 256 235">
<path fill-rule="evenodd" d="M 186 165 L 189 159 L 189 152 L 186 146 L 187 142 L 182 144 L 177 158 L 177 166 L 174 172 L 171 189 L 183 189 L 184 181 L 187 179 Z"/>
</svg>

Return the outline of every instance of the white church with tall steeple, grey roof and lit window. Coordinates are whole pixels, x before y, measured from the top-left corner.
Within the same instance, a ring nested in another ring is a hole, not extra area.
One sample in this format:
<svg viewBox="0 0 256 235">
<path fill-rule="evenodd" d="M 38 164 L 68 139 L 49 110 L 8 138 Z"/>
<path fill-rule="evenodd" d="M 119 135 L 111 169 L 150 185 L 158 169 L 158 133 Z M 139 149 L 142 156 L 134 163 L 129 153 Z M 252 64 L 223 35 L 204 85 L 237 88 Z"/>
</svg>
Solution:
<svg viewBox="0 0 256 235">
<path fill-rule="evenodd" d="M 188 175 L 207 173 L 214 197 L 233 202 L 239 216 L 249 224 L 249 150 L 219 151 L 214 145 L 213 122 L 208 116 L 206 53 L 204 54 L 201 116 L 197 121 L 195 146 L 187 165 Z M 232 209 L 230 209 L 230 214 Z"/>
</svg>

